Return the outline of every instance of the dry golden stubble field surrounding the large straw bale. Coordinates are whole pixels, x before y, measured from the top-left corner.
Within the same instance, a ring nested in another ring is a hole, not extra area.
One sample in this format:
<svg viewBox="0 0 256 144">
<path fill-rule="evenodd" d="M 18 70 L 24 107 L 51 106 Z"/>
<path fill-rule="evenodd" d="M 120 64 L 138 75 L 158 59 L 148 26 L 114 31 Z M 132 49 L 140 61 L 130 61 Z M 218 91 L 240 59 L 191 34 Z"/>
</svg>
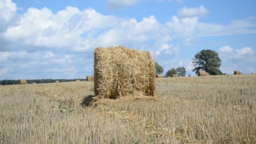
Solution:
<svg viewBox="0 0 256 144">
<path fill-rule="evenodd" d="M 87 81 L 0 86 L 0 143 L 256 143 L 256 75 L 156 84 L 155 97 L 115 100 Z"/>
</svg>

